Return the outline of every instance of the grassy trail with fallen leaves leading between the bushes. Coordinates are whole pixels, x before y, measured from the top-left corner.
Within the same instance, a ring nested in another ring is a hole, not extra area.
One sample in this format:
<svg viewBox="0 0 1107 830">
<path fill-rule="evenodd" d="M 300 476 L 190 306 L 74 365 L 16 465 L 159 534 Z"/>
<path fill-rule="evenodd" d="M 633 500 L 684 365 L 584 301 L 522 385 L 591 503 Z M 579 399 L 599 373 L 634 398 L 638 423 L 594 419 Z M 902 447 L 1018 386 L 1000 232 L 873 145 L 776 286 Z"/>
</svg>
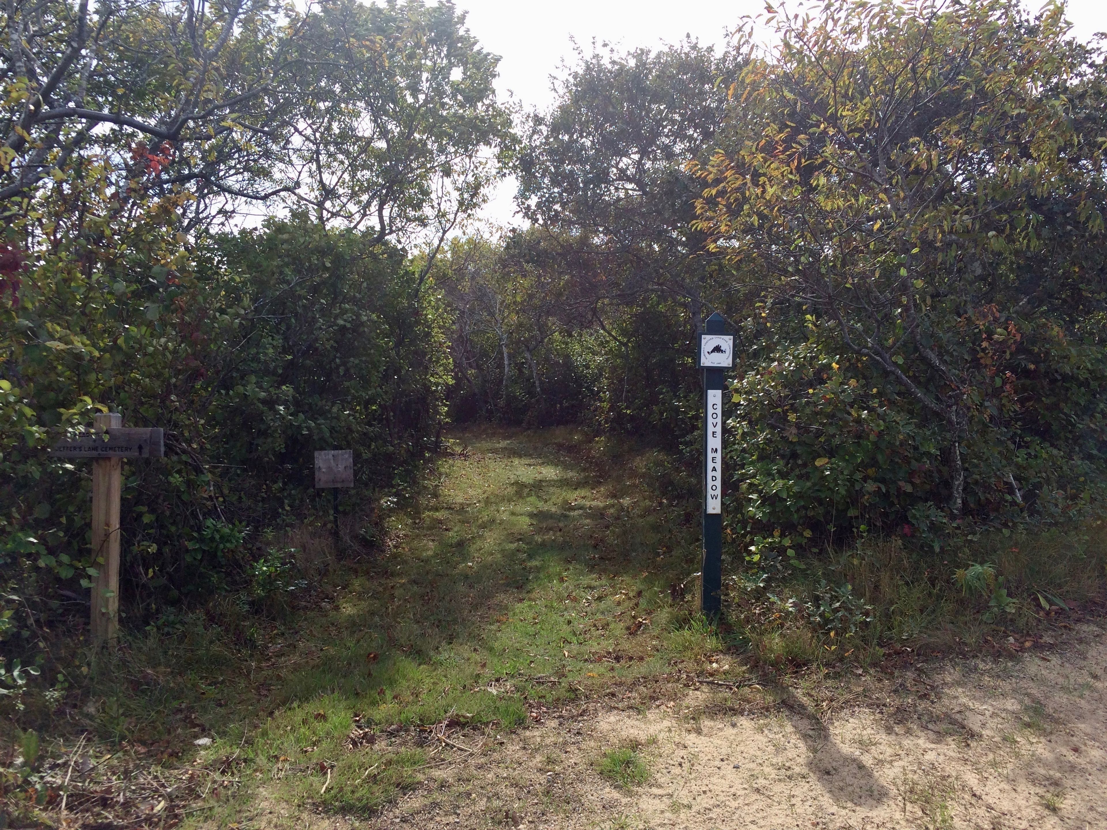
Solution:
<svg viewBox="0 0 1107 830">
<path fill-rule="evenodd" d="M 575 454 L 581 443 L 458 434 L 384 550 L 334 573 L 317 592 L 330 600 L 267 644 L 250 685 L 269 714 L 248 732 L 224 718 L 201 762 L 237 748 L 239 784 L 196 820 L 280 803 L 369 815 L 449 746 L 426 727 L 494 737 L 575 698 L 637 699 L 686 641 L 710 649 L 708 635 L 668 624 L 694 539 L 663 522 L 634 464 L 601 478 L 592 465 L 615 463 Z"/>
</svg>

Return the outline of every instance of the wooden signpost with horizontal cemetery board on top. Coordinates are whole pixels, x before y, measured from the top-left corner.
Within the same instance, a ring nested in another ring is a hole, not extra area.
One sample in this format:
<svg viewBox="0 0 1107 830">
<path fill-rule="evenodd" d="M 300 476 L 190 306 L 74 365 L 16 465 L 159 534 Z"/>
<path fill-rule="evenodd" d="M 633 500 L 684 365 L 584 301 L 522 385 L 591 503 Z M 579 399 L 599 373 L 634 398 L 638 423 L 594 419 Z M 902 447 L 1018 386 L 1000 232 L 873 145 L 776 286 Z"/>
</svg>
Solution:
<svg viewBox="0 0 1107 830">
<path fill-rule="evenodd" d="M 123 498 L 123 459 L 161 458 L 159 428 L 124 428 L 118 413 L 93 416 L 92 434 L 55 444 L 50 455 L 92 458 L 92 637 L 115 640 L 120 627 L 120 504 Z"/>
</svg>

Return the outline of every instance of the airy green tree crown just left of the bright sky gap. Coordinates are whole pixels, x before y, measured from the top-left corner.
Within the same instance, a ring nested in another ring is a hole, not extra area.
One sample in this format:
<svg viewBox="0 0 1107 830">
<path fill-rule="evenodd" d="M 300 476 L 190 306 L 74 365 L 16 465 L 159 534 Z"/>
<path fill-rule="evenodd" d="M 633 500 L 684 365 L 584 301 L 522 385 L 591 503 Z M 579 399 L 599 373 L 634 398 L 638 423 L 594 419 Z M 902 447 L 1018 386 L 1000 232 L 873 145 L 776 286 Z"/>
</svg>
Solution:
<svg viewBox="0 0 1107 830">
<path fill-rule="evenodd" d="M 329 0 L 302 22 L 286 173 L 298 198 L 320 222 L 372 228 L 377 241 L 428 237 L 436 252 L 511 147 L 499 59 L 451 2 Z"/>
</svg>

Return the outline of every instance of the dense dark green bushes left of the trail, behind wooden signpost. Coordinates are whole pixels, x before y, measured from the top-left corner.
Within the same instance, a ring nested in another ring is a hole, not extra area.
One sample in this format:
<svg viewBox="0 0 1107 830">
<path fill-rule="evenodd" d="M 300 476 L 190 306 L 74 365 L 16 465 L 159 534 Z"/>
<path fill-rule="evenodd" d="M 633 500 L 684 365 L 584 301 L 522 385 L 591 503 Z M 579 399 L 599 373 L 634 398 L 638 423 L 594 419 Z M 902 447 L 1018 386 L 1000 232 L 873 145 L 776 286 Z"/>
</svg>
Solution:
<svg viewBox="0 0 1107 830">
<path fill-rule="evenodd" d="M 195 252 L 139 235 L 165 264 L 130 237 L 83 261 L 48 251 L 0 311 L 0 567 L 46 624 L 95 567 L 89 463 L 46 447 L 95 408 L 167 430 L 166 458 L 124 467 L 132 616 L 247 581 L 258 532 L 310 512 L 312 450 L 353 448 L 364 494 L 408 480 L 441 425 L 439 315 L 395 249 L 303 219 Z"/>
</svg>

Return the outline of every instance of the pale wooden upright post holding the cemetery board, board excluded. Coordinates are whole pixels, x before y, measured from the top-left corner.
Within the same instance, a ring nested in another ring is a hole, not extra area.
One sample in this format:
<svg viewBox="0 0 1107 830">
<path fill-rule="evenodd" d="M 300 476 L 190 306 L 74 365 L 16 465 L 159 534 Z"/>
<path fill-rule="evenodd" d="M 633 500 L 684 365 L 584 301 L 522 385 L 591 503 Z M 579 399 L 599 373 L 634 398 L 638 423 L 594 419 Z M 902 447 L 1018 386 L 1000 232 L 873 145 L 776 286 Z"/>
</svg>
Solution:
<svg viewBox="0 0 1107 830">
<path fill-rule="evenodd" d="M 102 433 L 123 426 L 117 413 L 94 416 L 93 429 Z M 92 463 L 92 558 L 100 571 L 92 585 L 92 639 L 96 644 L 115 640 L 120 627 L 120 501 L 123 498 L 123 459 L 96 458 Z"/>
</svg>

